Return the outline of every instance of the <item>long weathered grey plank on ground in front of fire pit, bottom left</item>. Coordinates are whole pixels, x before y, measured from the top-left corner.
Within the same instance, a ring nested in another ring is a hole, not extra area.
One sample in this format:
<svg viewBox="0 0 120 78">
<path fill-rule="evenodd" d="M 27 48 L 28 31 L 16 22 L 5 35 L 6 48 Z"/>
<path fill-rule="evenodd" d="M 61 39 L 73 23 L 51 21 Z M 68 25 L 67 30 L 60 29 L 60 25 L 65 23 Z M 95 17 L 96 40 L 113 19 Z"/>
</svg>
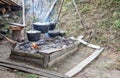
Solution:
<svg viewBox="0 0 120 78">
<path fill-rule="evenodd" d="M 68 76 L 65 76 L 63 74 L 60 74 L 54 71 L 31 67 L 31 66 L 28 66 L 22 63 L 16 63 L 16 62 L 11 62 L 11 61 L 0 60 L 0 66 L 12 68 L 16 70 L 21 70 L 24 72 L 33 73 L 36 75 L 45 76 L 49 78 L 69 78 Z"/>
</svg>

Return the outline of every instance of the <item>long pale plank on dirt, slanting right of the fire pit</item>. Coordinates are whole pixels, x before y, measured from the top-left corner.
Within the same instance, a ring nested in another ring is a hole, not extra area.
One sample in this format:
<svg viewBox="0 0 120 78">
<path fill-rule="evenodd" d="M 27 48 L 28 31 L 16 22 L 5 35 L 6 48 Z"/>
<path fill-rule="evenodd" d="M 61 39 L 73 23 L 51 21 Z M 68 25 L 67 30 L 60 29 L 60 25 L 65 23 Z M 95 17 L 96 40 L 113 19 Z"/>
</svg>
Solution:
<svg viewBox="0 0 120 78">
<path fill-rule="evenodd" d="M 80 62 L 77 66 L 75 66 L 74 68 L 72 68 L 70 71 L 68 71 L 65 75 L 69 76 L 69 77 L 73 77 L 74 75 L 76 75 L 78 72 L 82 71 L 83 68 L 85 68 L 90 62 L 92 62 L 96 57 L 98 57 L 98 55 L 104 50 L 104 48 L 101 49 L 97 49 L 95 50 L 95 52 L 90 55 L 88 58 L 86 58 L 85 60 L 83 60 L 82 62 Z"/>
</svg>

